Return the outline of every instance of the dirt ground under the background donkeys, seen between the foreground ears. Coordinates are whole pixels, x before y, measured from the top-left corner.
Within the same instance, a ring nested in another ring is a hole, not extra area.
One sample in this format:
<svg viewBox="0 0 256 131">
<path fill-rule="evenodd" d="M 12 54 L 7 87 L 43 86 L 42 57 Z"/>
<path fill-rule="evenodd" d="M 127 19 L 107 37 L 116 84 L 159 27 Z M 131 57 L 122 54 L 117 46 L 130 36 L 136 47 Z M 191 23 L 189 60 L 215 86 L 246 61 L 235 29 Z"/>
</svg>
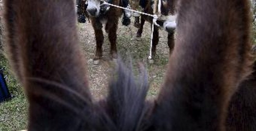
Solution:
<svg viewBox="0 0 256 131">
<path fill-rule="evenodd" d="M 148 22 L 144 25 L 144 32 L 141 38 L 136 37 L 137 28 L 133 26 L 134 19 L 131 19 L 129 26 L 118 25 L 117 48 L 118 55 L 126 61 L 132 57 L 134 72 L 137 74 L 137 64 L 142 62 L 149 74 L 150 91 L 149 96 L 156 96 L 163 80 L 166 64 L 168 63 L 169 47 L 167 44 L 167 32 L 159 30 L 159 44 L 157 45 L 157 59 L 154 64 L 147 62 L 150 47 L 151 27 Z M 102 28 L 104 29 L 104 27 Z M 95 36 L 91 23 L 78 24 L 78 35 L 82 49 L 85 51 L 87 60 L 88 76 L 93 96 L 96 98 L 106 96 L 108 81 L 113 75 L 113 62 L 109 59 L 110 43 L 107 33 L 104 30 L 103 59 L 99 65 L 93 65 L 95 53 Z"/>
</svg>

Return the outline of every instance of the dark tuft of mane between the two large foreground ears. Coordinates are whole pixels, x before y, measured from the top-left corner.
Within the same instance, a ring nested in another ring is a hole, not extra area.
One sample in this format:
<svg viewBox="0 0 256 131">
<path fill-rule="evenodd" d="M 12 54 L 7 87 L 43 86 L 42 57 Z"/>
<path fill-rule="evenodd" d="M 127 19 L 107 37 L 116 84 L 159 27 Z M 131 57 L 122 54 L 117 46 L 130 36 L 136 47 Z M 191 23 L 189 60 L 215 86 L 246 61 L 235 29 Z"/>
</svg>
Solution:
<svg viewBox="0 0 256 131">
<path fill-rule="evenodd" d="M 118 131 L 138 131 L 145 111 L 145 97 L 149 89 L 147 73 L 140 65 L 140 78 L 135 81 L 131 69 L 118 60 L 117 74 L 109 86 L 107 114 Z"/>
</svg>

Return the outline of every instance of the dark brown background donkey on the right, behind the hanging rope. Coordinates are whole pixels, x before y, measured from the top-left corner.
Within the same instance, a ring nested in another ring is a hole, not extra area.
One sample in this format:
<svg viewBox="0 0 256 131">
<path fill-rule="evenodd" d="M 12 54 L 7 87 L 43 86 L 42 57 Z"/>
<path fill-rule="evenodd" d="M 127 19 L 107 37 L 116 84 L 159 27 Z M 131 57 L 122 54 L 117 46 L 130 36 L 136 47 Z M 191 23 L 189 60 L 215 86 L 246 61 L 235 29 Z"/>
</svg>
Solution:
<svg viewBox="0 0 256 131">
<path fill-rule="evenodd" d="M 167 15 L 174 15 L 174 0 L 161 0 L 162 5 L 161 5 L 161 13 L 164 16 Z M 152 0 L 144 0 L 143 2 L 145 5 L 144 12 L 153 14 L 153 8 L 152 8 Z M 140 18 L 140 26 L 137 31 L 137 37 L 141 37 L 142 32 L 143 32 L 143 26 L 145 24 L 145 21 L 149 22 L 152 26 L 152 20 L 153 18 L 147 15 L 141 15 Z M 163 25 L 164 21 L 159 21 L 157 20 L 157 24 Z M 169 53 L 171 54 L 173 47 L 174 47 L 174 29 L 168 29 L 168 46 L 169 46 Z M 159 42 L 159 27 L 157 25 L 154 25 L 154 32 L 153 32 L 153 39 L 152 39 L 152 59 L 155 59 L 156 56 L 156 46 Z"/>
</svg>

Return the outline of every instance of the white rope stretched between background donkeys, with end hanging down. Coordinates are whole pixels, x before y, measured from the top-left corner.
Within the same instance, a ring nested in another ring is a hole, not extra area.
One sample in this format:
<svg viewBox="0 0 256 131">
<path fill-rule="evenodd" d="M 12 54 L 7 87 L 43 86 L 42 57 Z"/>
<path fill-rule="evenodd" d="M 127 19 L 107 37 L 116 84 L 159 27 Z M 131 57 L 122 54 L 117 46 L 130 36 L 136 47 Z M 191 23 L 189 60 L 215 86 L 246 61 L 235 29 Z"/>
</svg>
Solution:
<svg viewBox="0 0 256 131">
<path fill-rule="evenodd" d="M 113 7 L 122 8 L 122 9 L 125 9 L 125 10 L 130 10 L 130 11 L 132 11 L 132 12 L 137 12 L 137 13 L 141 13 L 141 14 L 143 14 L 143 15 L 148 15 L 148 16 L 153 17 L 153 21 L 152 21 L 152 30 L 151 30 L 151 40 L 150 40 L 150 50 L 149 50 L 149 57 L 148 57 L 149 60 L 152 59 L 152 51 L 151 51 L 151 50 L 152 50 L 152 43 L 153 43 L 154 25 L 157 25 L 158 27 L 160 27 L 160 25 L 158 25 L 158 24 L 156 23 L 156 20 L 157 20 L 158 16 L 157 16 L 157 15 L 151 15 L 151 14 L 149 14 L 149 13 L 139 12 L 139 11 L 137 11 L 137 10 L 132 10 L 132 9 L 130 9 L 130 8 L 120 7 L 120 6 L 118 6 L 118 5 L 113 5 L 113 4 L 111 4 L 111 3 L 105 2 L 104 0 L 101 0 L 101 1 L 103 2 L 102 4 L 111 5 L 111 6 L 113 6 Z M 161 0 L 159 0 L 159 1 L 161 1 Z M 159 5 L 158 5 L 158 6 L 159 6 Z M 161 3 L 160 3 L 160 6 L 161 6 Z M 159 9 L 158 9 L 158 11 L 159 11 Z M 159 12 L 160 12 L 160 14 L 161 14 L 161 10 L 160 10 Z"/>
</svg>

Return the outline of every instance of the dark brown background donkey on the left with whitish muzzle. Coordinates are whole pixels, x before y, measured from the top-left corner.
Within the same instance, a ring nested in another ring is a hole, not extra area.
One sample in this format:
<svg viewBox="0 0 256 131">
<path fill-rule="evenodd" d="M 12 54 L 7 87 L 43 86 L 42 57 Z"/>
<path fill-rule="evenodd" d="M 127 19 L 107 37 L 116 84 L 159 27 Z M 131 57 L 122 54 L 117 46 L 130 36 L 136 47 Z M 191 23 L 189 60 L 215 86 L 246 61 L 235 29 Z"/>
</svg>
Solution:
<svg viewBox="0 0 256 131">
<path fill-rule="evenodd" d="M 121 0 L 111 0 L 111 4 L 122 6 Z M 110 42 L 110 56 L 112 59 L 117 59 L 116 38 L 118 29 L 118 19 L 122 15 L 122 10 L 116 7 L 110 7 L 108 11 L 102 11 L 100 0 L 88 0 L 88 15 L 92 20 L 92 26 L 96 39 L 96 53 L 93 59 L 94 64 L 99 64 L 102 58 L 102 44 L 104 36 L 102 32 L 102 24 L 106 24 L 105 30 L 108 33 Z M 106 8 L 104 8 L 106 9 Z"/>
</svg>

